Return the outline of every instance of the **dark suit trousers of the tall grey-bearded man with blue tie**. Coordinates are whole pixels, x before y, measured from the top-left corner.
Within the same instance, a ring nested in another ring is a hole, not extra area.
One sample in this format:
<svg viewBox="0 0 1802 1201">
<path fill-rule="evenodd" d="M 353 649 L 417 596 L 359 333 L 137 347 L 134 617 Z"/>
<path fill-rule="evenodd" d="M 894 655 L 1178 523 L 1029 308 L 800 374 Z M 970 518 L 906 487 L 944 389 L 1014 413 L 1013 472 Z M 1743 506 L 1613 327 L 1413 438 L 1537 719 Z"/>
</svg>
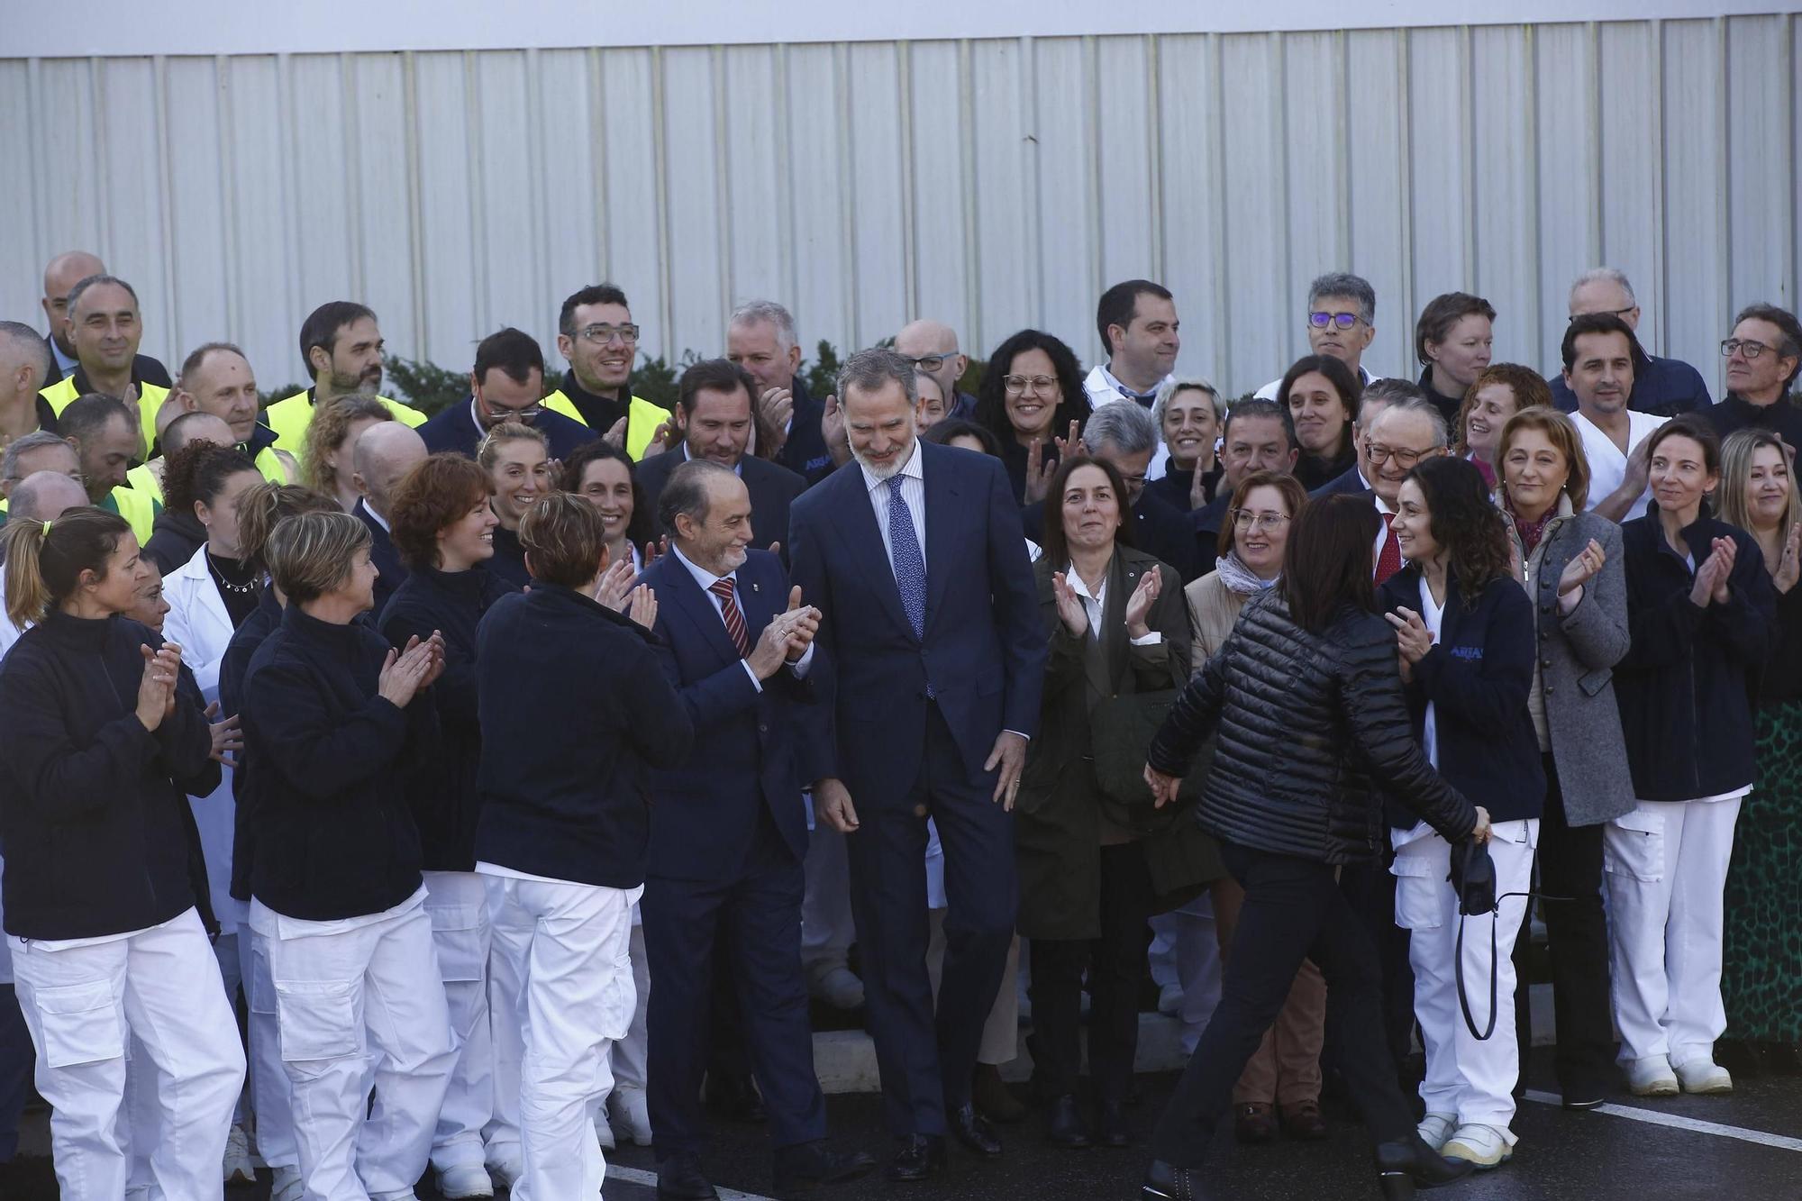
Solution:
<svg viewBox="0 0 1802 1201">
<path fill-rule="evenodd" d="M 896 765 L 908 761 L 896 754 Z M 858 808 L 845 839 L 863 997 L 892 1134 L 944 1134 L 946 1107 L 969 1104 L 982 1022 L 1013 941 L 1020 889 L 1013 815 L 993 801 L 995 774 L 971 775 L 937 705 L 908 792 Z M 852 802 L 858 797 L 852 795 Z M 926 976 L 926 819 L 944 848 L 944 974 L 937 1017 Z"/>
</svg>

